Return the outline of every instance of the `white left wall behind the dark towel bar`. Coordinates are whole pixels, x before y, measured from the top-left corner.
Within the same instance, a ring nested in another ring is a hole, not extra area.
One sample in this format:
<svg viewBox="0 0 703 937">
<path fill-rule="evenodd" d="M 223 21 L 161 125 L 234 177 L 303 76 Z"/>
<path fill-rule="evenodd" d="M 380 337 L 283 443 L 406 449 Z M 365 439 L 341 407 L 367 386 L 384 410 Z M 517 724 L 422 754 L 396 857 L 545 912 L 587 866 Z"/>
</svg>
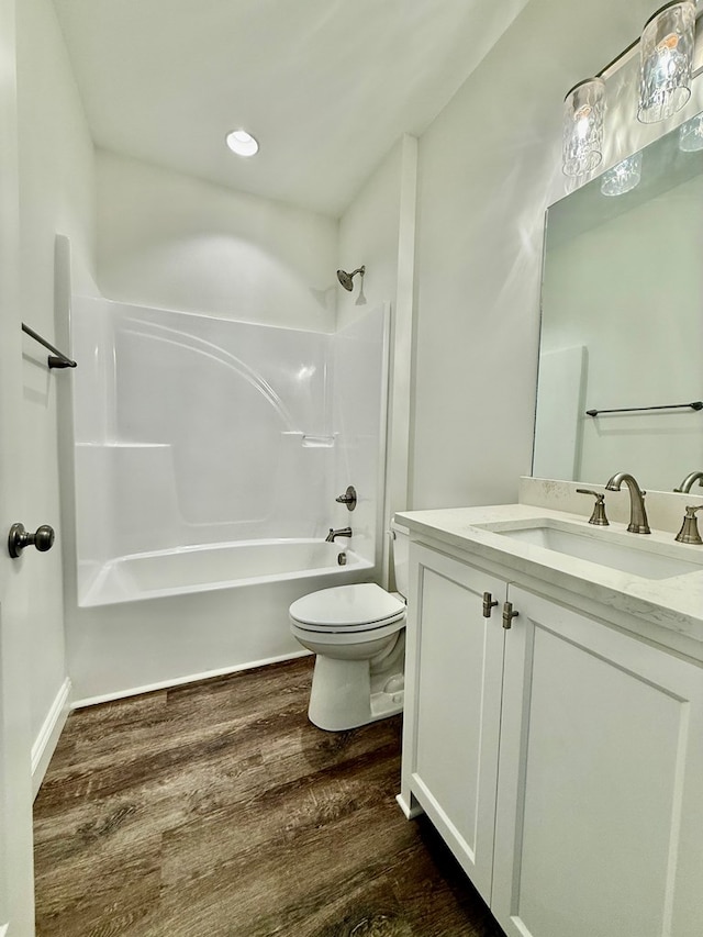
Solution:
<svg viewBox="0 0 703 937">
<path fill-rule="evenodd" d="M 77 286 L 92 278 L 93 149 L 63 37 L 49 0 L 22 0 L 18 15 L 20 278 L 22 319 L 54 339 L 54 238 L 70 236 Z M 27 336 L 24 349 L 24 440 L 20 458 L 27 528 L 51 524 L 58 542 L 46 555 L 27 550 L 27 622 L 32 629 L 32 737 L 66 679 L 56 434 L 56 395 L 70 370 L 49 371 L 47 353 Z"/>
</svg>

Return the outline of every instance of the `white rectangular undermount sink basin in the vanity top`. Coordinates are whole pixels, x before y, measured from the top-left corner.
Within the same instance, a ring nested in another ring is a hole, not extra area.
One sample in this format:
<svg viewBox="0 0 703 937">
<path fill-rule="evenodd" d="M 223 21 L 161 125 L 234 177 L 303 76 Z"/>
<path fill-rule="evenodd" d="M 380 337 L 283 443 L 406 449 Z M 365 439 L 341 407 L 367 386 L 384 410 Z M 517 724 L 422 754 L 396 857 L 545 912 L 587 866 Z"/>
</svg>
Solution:
<svg viewBox="0 0 703 937">
<path fill-rule="evenodd" d="M 566 522 L 546 520 L 540 520 L 533 526 L 493 528 L 493 533 L 517 543 L 532 544 L 645 579 L 668 579 L 671 576 L 703 570 L 703 547 L 700 548 L 700 558 L 695 555 L 676 556 L 679 549 L 676 544 L 650 540 L 641 543 L 647 538 L 640 534 L 621 534 L 603 529 L 591 532 L 576 524 L 569 526 Z M 635 543 L 624 540 L 625 537 L 633 538 Z"/>
</svg>

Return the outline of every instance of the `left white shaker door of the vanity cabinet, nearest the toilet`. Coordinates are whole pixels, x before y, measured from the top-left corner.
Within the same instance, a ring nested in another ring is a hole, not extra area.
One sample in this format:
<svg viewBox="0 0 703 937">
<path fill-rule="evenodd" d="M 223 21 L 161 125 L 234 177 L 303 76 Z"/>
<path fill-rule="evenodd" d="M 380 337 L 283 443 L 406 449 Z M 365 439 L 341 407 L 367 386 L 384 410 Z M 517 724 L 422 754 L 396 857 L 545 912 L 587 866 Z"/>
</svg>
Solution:
<svg viewBox="0 0 703 937">
<path fill-rule="evenodd" d="M 411 562 L 410 788 L 490 901 L 505 583 L 416 545 Z"/>
</svg>

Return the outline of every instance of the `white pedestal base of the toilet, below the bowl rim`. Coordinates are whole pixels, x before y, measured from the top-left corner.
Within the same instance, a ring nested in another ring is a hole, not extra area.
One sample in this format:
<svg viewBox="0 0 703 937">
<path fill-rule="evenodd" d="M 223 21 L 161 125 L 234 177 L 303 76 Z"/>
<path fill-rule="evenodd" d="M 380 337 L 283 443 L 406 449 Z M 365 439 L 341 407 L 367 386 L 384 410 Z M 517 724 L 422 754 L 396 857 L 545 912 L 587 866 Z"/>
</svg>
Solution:
<svg viewBox="0 0 703 937">
<path fill-rule="evenodd" d="M 404 632 L 393 652 L 375 666 L 319 654 L 308 717 L 317 728 L 343 732 L 403 711 Z"/>
</svg>

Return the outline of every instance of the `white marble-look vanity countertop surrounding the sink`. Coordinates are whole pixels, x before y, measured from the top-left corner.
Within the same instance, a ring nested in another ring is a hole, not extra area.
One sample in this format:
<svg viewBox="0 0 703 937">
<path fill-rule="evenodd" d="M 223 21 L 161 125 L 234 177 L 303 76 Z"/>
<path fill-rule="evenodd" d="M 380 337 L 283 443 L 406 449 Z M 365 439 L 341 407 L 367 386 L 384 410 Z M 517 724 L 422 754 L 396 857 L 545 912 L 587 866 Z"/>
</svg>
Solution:
<svg viewBox="0 0 703 937">
<path fill-rule="evenodd" d="M 438 542 L 459 550 L 469 561 L 499 564 L 522 580 L 539 580 L 698 642 L 701 647 L 695 657 L 703 659 L 703 546 L 678 544 L 670 532 L 629 534 L 622 523 L 594 527 L 582 515 L 529 504 L 408 511 L 395 514 L 395 520 L 410 528 L 413 539 L 432 540 L 435 546 Z M 648 553 L 655 548 L 700 565 L 700 569 L 649 579 L 499 533 L 501 527 L 533 526 L 539 520 L 567 522 L 571 529 L 601 542 L 611 538 L 612 543 Z M 578 601 L 573 604 L 578 607 Z"/>
</svg>

